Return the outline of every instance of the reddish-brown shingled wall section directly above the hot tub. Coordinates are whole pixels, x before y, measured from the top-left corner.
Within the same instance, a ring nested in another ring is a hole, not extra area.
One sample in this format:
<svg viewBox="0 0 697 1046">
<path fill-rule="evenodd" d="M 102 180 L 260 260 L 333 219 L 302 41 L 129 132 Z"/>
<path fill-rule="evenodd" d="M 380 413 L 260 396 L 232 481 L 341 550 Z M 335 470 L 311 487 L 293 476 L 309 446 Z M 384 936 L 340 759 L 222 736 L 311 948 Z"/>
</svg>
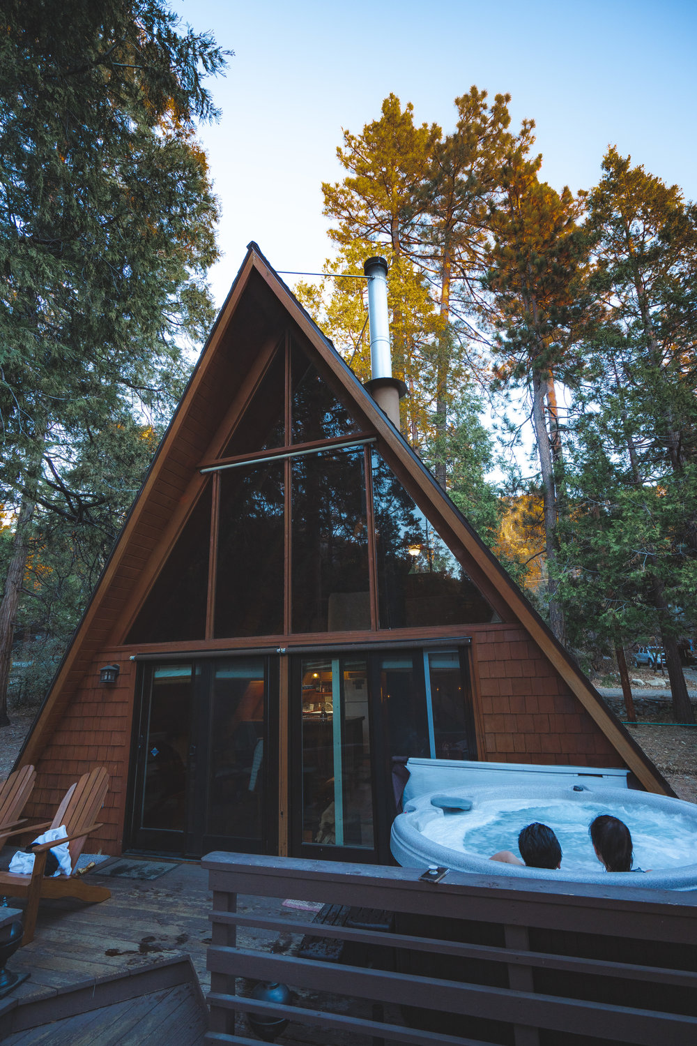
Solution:
<svg viewBox="0 0 697 1046">
<path fill-rule="evenodd" d="M 480 758 L 625 766 L 525 629 L 472 630 L 472 659 L 486 746 Z"/>
</svg>

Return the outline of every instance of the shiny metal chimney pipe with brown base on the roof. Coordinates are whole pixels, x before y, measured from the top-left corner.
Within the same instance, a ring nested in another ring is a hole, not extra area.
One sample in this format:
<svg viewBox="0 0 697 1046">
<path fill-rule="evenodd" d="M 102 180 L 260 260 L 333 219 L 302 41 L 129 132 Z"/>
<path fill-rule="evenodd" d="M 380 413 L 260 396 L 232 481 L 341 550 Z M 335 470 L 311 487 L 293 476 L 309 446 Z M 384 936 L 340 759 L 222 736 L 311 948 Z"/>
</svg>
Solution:
<svg viewBox="0 0 697 1046">
<path fill-rule="evenodd" d="M 372 376 L 371 380 L 366 382 L 366 388 L 398 430 L 399 401 L 405 394 L 406 386 L 398 378 L 392 377 L 388 313 L 388 264 L 382 257 L 368 258 L 363 271 L 368 277 L 368 321 L 370 324 L 370 369 Z"/>
</svg>

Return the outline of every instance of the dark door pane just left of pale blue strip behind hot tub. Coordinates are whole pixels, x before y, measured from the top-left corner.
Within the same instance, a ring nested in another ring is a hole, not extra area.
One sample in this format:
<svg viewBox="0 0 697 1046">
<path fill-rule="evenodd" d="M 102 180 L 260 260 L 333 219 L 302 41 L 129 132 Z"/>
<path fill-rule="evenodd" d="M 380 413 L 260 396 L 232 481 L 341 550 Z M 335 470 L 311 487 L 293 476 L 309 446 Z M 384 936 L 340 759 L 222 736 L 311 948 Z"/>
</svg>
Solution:
<svg viewBox="0 0 697 1046">
<path fill-rule="evenodd" d="M 420 656 L 419 656 L 420 658 Z M 390 758 L 431 754 L 423 674 L 410 653 L 380 658 L 380 708 Z"/>
</svg>

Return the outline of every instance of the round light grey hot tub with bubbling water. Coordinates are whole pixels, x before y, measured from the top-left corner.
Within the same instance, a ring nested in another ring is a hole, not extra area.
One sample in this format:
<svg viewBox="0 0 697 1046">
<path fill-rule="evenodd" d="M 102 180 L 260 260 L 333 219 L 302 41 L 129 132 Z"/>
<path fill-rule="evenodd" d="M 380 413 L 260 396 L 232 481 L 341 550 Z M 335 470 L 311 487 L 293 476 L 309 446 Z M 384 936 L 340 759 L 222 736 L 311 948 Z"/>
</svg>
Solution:
<svg viewBox="0 0 697 1046">
<path fill-rule="evenodd" d="M 633 791 L 627 788 L 626 772 L 495 764 L 458 768 L 450 760 L 410 760 L 408 766 L 411 787 L 391 840 L 395 859 L 405 867 L 438 864 L 495 877 L 697 889 L 697 805 Z M 605 871 L 587 833 L 598 814 L 611 814 L 629 826 L 634 866 L 650 870 Z M 561 868 L 492 864 L 489 857 L 496 850 L 517 852 L 518 832 L 532 821 L 556 833 Z"/>
</svg>

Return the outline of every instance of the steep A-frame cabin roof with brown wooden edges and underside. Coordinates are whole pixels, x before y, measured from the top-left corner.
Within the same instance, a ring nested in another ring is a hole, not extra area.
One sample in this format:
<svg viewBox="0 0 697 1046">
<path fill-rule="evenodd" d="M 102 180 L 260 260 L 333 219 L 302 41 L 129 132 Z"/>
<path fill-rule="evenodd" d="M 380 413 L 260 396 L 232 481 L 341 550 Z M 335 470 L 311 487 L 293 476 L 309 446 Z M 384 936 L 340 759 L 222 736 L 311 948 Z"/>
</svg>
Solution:
<svg viewBox="0 0 697 1046">
<path fill-rule="evenodd" d="M 177 537 L 176 518 L 201 490 L 202 461 L 222 452 L 229 418 L 249 397 L 250 373 L 274 351 L 279 329 L 295 324 L 317 354 L 342 396 L 366 428 L 375 432 L 384 456 L 408 479 L 426 517 L 444 537 L 460 543 L 471 561 L 467 572 L 497 609 L 517 620 L 548 657 L 597 726 L 649 791 L 673 794 L 670 786 L 556 640 L 495 556 L 436 482 L 355 374 L 251 243 L 230 293 L 213 324 L 184 395 L 153 459 L 72 642 L 46 696 L 18 765 L 36 761 L 45 738 L 63 717 L 71 696 L 100 649 L 123 641 L 124 615 L 133 620 L 148 584 Z M 115 634 L 120 628 L 121 633 Z M 377 637 L 376 637 L 377 638 Z M 205 650 L 205 641 L 190 644 Z"/>
</svg>

